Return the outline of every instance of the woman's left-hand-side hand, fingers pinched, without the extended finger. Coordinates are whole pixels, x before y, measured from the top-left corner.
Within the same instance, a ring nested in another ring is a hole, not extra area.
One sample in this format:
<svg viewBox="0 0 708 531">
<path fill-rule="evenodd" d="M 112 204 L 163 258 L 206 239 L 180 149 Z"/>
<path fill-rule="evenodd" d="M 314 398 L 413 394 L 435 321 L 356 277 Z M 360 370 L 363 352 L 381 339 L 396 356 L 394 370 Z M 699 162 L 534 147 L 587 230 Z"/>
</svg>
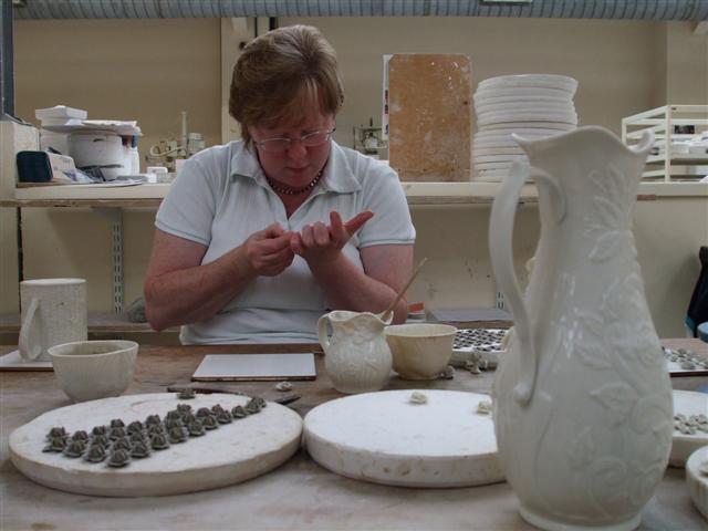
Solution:
<svg viewBox="0 0 708 531">
<path fill-rule="evenodd" d="M 256 275 L 275 277 L 292 263 L 295 258 L 290 243 L 292 236 L 279 223 L 272 223 L 248 237 L 243 252 Z"/>
</svg>

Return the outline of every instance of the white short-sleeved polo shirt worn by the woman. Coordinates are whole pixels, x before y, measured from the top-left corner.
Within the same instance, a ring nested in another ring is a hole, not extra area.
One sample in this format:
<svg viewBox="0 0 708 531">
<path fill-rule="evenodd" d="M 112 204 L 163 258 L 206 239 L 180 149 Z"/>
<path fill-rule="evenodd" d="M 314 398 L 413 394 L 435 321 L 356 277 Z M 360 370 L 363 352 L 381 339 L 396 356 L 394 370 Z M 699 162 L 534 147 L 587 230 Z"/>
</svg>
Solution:
<svg viewBox="0 0 708 531">
<path fill-rule="evenodd" d="M 257 157 L 241 142 L 192 156 L 157 211 L 155 226 L 207 246 L 201 263 L 229 252 L 253 232 L 278 222 L 285 230 L 330 223 L 336 210 L 344 221 L 363 210 L 374 217 L 344 247 L 362 268 L 360 249 L 410 244 L 416 232 L 398 176 L 386 164 L 332 142 L 323 177 L 288 218 Z M 316 323 L 327 301 L 306 262 L 295 256 L 277 277 L 259 277 L 212 317 L 181 327 L 185 344 L 317 342 Z"/>
</svg>

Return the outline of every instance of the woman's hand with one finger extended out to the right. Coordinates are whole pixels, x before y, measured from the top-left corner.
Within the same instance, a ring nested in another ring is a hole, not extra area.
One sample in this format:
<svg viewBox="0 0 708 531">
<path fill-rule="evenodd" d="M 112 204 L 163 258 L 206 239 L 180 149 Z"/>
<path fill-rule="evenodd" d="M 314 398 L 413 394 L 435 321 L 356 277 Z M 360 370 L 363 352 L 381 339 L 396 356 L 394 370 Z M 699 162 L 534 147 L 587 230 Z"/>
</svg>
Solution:
<svg viewBox="0 0 708 531">
<path fill-rule="evenodd" d="M 332 262 L 339 258 L 340 251 L 352 236 L 372 217 L 374 212 L 366 210 L 343 223 L 340 214 L 332 211 L 330 226 L 317 221 L 314 225 L 304 226 L 300 232 L 292 232 L 290 249 L 311 266 Z"/>
</svg>

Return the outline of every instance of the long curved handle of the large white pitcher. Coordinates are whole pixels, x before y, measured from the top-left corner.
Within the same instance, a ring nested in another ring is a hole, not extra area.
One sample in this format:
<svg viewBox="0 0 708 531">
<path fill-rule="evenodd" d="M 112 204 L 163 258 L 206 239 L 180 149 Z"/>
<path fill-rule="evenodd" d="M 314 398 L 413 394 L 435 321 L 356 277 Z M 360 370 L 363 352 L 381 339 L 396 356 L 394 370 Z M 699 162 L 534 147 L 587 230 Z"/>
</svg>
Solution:
<svg viewBox="0 0 708 531">
<path fill-rule="evenodd" d="M 494 198 L 489 221 L 489 251 L 494 278 L 511 308 L 514 334 L 524 345 L 524 351 L 528 351 L 521 355 L 521 377 L 513 389 L 516 400 L 522 406 L 529 404 L 533 394 L 539 353 L 529 321 L 529 312 L 523 302 L 523 293 L 513 269 L 512 237 L 517 204 L 521 189 L 530 177 L 533 177 L 539 185 L 548 186 L 556 221 L 563 219 L 565 196 L 558 181 L 539 168 L 516 163 Z"/>
</svg>

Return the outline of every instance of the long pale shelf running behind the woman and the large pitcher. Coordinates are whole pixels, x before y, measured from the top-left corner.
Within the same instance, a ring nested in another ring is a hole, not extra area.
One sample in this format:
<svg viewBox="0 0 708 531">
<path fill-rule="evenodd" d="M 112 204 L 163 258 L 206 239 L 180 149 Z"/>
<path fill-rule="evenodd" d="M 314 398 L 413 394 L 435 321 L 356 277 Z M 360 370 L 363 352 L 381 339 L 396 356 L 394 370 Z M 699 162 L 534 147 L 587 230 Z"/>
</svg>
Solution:
<svg viewBox="0 0 708 531">
<path fill-rule="evenodd" d="M 402 183 L 410 206 L 488 205 L 499 191 L 500 183 Z M 139 185 L 124 188 L 85 188 L 82 185 L 17 188 L 14 199 L 0 200 L 0 207 L 43 208 L 157 208 L 169 185 Z M 708 185 L 689 183 L 642 183 L 639 200 L 657 197 L 708 196 Z M 521 202 L 537 202 L 534 185 L 521 191 Z"/>
</svg>

